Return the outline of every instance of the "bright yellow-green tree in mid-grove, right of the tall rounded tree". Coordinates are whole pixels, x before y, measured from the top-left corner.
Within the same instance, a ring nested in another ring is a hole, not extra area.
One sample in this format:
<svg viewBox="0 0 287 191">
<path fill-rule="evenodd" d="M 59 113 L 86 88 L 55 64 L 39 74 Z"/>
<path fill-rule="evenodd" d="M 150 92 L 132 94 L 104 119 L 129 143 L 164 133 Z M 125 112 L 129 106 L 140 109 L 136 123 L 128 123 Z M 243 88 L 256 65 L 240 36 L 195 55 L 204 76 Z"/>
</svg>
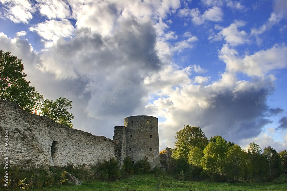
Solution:
<svg viewBox="0 0 287 191">
<path fill-rule="evenodd" d="M 201 166 L 204 170 L 223 175 L 226 168 L 226 141 L 220 136 L 216 136 L 216 142 L 210 142 L 203 150 L 204 156 Z"/>
</svg>

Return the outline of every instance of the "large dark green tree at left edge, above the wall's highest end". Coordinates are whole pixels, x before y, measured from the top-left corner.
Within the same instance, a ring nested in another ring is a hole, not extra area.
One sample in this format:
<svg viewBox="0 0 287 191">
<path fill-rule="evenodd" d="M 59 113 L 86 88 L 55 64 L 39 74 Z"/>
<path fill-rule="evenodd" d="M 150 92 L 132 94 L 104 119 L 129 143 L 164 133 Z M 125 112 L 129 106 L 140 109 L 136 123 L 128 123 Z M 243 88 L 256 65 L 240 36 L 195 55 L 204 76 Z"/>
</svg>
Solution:
<svg viewBox="0 0 287 191">
<path fill-rule="evenodd" d="M 0 99 L 18 104 L 25 111 L 32 112 L 38 92 L 26 81 L 24 65 L 17 56 L 0 50 Z"/>
</svg>

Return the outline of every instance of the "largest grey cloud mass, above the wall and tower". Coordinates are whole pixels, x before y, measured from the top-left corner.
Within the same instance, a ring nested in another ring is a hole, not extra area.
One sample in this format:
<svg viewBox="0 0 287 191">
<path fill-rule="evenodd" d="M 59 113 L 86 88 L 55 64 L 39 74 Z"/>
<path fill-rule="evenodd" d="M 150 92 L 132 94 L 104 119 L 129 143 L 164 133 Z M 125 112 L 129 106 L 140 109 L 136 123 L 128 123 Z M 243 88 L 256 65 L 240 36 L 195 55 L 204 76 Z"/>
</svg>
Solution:
<svg viewBox="0 0 287 191">
<path fill-rule="evenodd" d="M 162 68 L 155 45 L 153 24 L 131 17 L 108 37 L 80 28 L 71 40 L 58 40 L 42 53 L 40 68 L 62 79 L 69 100 L 86 100 L 89 117 L 120 119 L 144 109 L 143 81 Z"/>
</svg>

